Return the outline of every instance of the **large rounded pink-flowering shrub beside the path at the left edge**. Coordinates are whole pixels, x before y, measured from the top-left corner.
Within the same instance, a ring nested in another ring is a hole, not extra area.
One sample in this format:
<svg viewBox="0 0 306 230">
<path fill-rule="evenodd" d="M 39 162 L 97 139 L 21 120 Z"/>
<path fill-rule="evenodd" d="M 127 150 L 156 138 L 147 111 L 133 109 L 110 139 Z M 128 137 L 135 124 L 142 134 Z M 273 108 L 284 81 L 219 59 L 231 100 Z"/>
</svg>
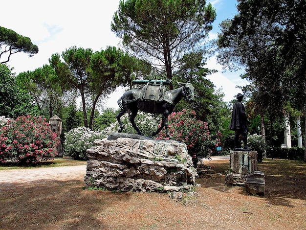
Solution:
<svg viewBox="0 0 306 230">
<path fill-rule="evenodd" d="M 31 115 L 9 120 L 0 129 L 0 163 L 37 163 L 54 159 L 59 144 L 45 118 Z"/>
</svg>

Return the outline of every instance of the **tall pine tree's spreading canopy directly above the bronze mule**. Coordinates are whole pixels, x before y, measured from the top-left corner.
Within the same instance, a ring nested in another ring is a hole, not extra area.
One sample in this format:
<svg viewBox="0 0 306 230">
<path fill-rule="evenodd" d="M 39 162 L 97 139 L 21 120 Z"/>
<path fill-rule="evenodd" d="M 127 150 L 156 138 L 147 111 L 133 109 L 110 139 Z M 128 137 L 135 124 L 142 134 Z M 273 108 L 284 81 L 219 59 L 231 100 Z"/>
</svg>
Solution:
<svg viewBox="0 0 306 230">
<path fill-rule="evenodd" d="M 205 0 L 121 0 L 111 30 L 135 56 L 172 79 L 186 53 L 206 50 L 216 10 Z M 166 71 L 166 74 L 164 74 Z"/>
</svg>

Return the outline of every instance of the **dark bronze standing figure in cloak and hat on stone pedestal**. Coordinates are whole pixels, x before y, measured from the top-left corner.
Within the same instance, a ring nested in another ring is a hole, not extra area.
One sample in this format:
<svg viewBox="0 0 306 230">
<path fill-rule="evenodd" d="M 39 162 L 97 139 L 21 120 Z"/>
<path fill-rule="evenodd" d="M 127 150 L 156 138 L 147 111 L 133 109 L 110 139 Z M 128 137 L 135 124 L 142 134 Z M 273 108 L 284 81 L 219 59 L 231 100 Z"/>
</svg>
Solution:
<svg viewBox="0 0 306 230">
<path fill-rule="evenodd" d="M 238 93 L 237 101 L 233 106 L 233 113 L 232 113 L 232 120 L 231 124 L 229 125 L 229 129 L 235 131 L 235 150 L 236 151 L 251 151 L 252 149 L 247 146 L 247 116 L 245 113 L 244 106 L 242 104 L 243 95 Z M 241 147 L 240 135 L 242 136 L 242 141 L 244 147 Z"/>
</svg>

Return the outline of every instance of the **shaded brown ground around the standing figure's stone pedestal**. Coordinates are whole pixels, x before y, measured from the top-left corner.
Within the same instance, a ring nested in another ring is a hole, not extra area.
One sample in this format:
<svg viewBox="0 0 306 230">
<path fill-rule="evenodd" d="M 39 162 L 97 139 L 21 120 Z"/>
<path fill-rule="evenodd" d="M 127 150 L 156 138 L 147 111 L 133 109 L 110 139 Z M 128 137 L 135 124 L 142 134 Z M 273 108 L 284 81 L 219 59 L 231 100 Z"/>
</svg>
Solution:
<svg viewBox="0 0 306 230">
<path fill-rule="evenodd" d="M 211 167 L 204 174 L 199 173 L 198 184 L 221 192 L 229 192 L 233 186 L 225 184 L 225 174 L 229 169 L 229 161 L 207 161 Z M 306 200 L 306 163 L 290 160 L 266 160 L 258 164 L 258 170 L 265 175 L 265 195 L 270 204 L 291 207 L 286 199 Z M 242 187 L 241 194 L 250 196 Z M 252 195 L 251 195 L 252 196 Z"/>
</svg>

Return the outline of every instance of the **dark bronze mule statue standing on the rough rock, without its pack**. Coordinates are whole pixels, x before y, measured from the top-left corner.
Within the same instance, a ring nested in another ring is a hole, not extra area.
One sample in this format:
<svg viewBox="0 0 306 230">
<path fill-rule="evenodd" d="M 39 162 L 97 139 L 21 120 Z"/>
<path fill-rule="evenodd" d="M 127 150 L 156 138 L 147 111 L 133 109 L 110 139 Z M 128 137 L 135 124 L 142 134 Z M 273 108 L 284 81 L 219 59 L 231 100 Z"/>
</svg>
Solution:
<svg viewBox="0 0 306 230">
<path fill-rule="evenodd" d="M 168 90 L 163 92 L 163 96 L 160 100 L 145 100 L 143 99 L 143 90 L 142 89 L 132 89 L 125 92 L 122 97 L 118 100 L 118 105 L 121 108 L 121 111 L 116 118 L 119 122 L 120 129 L 119 133 L 122 132 L 124 126 L 120 120 L 120 117 L 124 115 L 129 110 L 131 111 L 130 122 L 137 132 L 138 135 L 141 135 L 141 131 L 135 125 L 135 117 L 137 112 L 143 111 L 145 113 L 151 114 L 162 114 L 161 126 L 152 134 L 152 136 L 157 135 L 163 127 L 166 130 L 166 136 L 168 138 L 173 138 L 169 135 L 168 131 L 168 116 L 173 112 L 175 105 L 184 97 L 188 102 L 192 102 L 195 99 L 194 96 L 194 87 L 190 83 L 180 83 L 177 82 L 181 87 L 175 90 Z"/>
</svg>

